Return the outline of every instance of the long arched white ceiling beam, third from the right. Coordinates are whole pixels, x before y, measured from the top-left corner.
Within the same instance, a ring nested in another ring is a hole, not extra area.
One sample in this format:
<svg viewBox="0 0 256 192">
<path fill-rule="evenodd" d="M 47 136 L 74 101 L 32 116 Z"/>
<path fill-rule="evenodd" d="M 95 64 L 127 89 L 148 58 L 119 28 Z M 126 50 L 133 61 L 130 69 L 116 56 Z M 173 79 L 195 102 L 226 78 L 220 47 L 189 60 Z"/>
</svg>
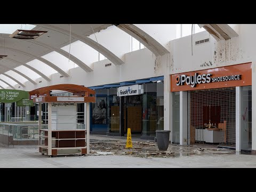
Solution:
<svg viewBox="0 0 256 192">
<path fill-rule="evenodd" d="M 68 36 L 70 35 L 69 31 L 67 31 L 65 29 L 61 29 L 59 27 L 52 26 L 52 25 L 47 25 L 47 24 L 33 24 L 33 25 L 43 27 L 43 28 L 46 28 L 46 29 L 51 29 L 51 30 L 54 30 L 54 31 L 58 31 L 59 33 L 62 33 L 62 34 L 68 35 Z M 105 47 L 100 45 L 99 43 L 93 41 L 89 37 L 82 37 L 82 36 L 74 34 L 72 32 L 71 32 L 71 37 L 76 38 L 77 40 L 89 45 L 94 50 L 100 52 L 109 61 L 113 62 L 114 65 L 121 65 L 121 64 L 124 63 L 124 61 L 122 61 L 120 58 L 118 58 L 114 53 L 112 53 L 111 51 L 109 51 L 108 49 L 106 49 Z"/>
</svg>

